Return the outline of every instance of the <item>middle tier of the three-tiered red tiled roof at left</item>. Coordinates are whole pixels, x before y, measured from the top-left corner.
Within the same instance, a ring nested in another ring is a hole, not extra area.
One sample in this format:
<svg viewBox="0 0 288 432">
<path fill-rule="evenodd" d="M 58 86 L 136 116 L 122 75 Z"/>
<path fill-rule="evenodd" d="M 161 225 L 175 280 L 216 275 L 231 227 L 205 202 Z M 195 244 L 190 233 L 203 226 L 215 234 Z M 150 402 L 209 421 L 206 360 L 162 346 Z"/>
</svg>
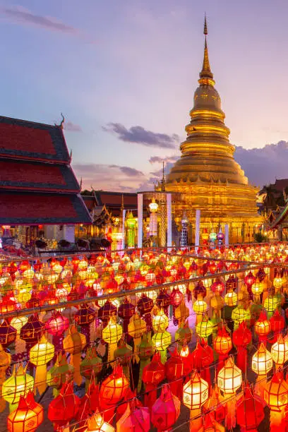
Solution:
<svg viewBox="0 0 288 432">
<path fill-rule="evenodd" d="M 0 159 L 0 188 L 79 191 L 78 182 L 67 165 L 8 159 Z"/>
</svg>

